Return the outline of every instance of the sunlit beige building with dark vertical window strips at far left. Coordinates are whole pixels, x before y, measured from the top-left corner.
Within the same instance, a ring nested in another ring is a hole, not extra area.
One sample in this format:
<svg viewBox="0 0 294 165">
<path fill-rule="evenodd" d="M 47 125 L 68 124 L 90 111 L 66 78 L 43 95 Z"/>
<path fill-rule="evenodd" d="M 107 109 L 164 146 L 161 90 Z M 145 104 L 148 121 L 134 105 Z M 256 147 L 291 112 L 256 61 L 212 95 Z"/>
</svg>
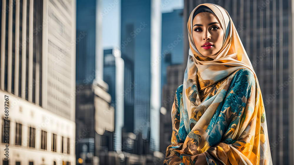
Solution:
<svg viewBox="0 0 294 165">
<path fill-rule="evenodd" d="M 76 2 L 2 0 L 0 8 L 3 106 L 9 98 L 0 164 L 75 164 Z"/>
</svg>

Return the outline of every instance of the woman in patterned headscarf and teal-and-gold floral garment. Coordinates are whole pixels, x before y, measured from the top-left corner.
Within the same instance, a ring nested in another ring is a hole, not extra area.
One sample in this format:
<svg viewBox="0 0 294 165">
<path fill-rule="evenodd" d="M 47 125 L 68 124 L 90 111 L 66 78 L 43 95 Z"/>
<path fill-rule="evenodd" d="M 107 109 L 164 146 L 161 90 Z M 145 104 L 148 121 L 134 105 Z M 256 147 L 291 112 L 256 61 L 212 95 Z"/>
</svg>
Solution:
<svg viewBox="0 0 294 165">
<path fill-rule="evenodd" d="M 198 5 L 164 164 L 272 164 L 258 79 L 227 11 Z"/>
</svg>

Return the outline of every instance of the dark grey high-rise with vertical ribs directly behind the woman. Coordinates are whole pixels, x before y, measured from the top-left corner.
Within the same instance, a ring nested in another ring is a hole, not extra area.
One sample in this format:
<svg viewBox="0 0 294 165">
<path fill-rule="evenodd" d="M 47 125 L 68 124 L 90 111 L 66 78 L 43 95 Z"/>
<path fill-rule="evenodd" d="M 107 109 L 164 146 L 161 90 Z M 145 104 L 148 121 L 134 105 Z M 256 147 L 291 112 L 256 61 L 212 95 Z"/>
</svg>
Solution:
<svg viewBox="0 0 294 165">
<path fill-rule="evenodd" d="M 202 3 L 218 4 L 230 14 L 263 94 L 273 164 L 293 164 L 292 1 L 185 0 L 184 20 Z M 188 50 L 186 40 L 185 55 Z"/>
</svg>

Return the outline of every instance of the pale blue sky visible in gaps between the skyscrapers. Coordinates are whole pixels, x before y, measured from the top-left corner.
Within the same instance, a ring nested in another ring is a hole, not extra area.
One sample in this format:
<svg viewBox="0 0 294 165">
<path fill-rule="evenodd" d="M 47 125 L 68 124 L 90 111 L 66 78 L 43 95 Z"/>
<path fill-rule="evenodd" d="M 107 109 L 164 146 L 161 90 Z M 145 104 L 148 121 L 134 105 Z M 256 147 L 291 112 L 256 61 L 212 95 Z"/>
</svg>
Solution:
<svg viewBox="0 0 294 165">
<path fill-rule="evenodd" d="M 117 3 L 116 3 L 117 2 Z M 121 39 L 121 1 L 103 0 L 103 49 L 119 47 Z M 161 0 L 161 12 L 172 12 L 173 9 L 184 8 L 184 0 Z"/>
</svg>

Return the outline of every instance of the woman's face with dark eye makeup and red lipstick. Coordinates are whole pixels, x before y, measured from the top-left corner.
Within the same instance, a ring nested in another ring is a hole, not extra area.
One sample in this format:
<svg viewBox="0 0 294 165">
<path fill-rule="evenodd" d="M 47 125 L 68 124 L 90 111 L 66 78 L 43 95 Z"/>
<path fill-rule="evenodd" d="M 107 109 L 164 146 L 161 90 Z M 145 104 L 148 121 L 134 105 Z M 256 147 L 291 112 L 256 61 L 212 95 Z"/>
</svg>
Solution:
<svg viewBox="0 0 294 165">
<path fill-rule="evenodd" d="M 223 29 L 213 13 L 201 12 L 193 19 L 192 36 L 201 55 L 215 58 L 223 45 Z"/>
</svg>

